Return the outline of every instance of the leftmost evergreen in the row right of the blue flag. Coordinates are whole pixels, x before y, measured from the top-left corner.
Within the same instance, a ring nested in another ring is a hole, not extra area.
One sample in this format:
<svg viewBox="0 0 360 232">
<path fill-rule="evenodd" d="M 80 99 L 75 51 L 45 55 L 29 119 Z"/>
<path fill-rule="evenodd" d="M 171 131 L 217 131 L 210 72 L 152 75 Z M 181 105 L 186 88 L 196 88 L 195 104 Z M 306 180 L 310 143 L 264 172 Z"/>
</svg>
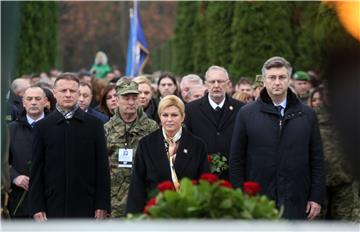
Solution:
<svg viewBox="0 0 360 232">
<path fill-rule="evenodd" d="M 174 38 L 174 71 L 187 74 L 194 71 L 193 62 L 193 30 L 198 2 L 178 2 L 176 8 L 176 24 Z"/>
</svg>

